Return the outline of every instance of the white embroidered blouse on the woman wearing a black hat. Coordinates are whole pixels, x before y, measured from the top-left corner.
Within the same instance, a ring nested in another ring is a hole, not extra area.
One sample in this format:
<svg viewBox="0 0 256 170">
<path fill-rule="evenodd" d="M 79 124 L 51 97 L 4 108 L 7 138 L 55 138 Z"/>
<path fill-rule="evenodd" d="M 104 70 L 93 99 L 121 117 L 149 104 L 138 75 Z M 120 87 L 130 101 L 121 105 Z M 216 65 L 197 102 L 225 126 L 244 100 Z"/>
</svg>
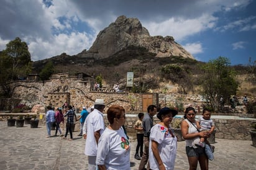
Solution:
<svg viewBox="0 0 256 170">
<path fill-rule="evenodd" d="M 154 125 L 150 130 L 149 141 L 149 162 L 150 169 L 159 169 L 157 159 L 153 156 L 152 140 L 158 143 L 158 151 L 160 158 L 163 161 L 165 169 L 174 169 L 176 151 L 177 151 L 177 138 L 173 138 L 168 128 L 163 127 L 160 124 Z"/>
</svg>

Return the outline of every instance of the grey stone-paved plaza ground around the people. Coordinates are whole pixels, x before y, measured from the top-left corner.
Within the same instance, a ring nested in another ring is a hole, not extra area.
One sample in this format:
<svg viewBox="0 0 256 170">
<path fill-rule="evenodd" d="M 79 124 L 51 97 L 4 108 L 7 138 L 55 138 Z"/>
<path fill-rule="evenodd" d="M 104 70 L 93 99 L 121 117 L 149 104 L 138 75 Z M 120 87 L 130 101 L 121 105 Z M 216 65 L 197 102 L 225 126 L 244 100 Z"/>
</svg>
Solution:
<svg viewBox="0 0 256 170">
<path fill-rule="evenodd" d="M 87 169 L 85 140 L 77 136 L 78 132 L 73 133 L 73 141 L 60 136 L 45 138 L 46 135 L 46 127 L 16 128 L 0 122 L 0 169 Z M 130 144 L 130 164 L 134 170 L 140 161 L 134 159 L 136 141 L 130 139 Z M 209 169 L 256 169 L 256 148 L 252 141 L 216 139 L 214 146 L 214 160 L 209 161 Z M 175 169 L 188 169 L 185 141 L 178 142 Z"/>
</svg>

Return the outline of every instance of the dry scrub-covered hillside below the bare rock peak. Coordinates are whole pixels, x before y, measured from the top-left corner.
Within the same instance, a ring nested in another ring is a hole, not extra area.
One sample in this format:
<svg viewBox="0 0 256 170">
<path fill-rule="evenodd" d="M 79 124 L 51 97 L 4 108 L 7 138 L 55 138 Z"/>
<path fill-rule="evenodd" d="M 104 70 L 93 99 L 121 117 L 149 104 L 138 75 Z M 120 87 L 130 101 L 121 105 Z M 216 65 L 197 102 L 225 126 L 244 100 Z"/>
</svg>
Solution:
<svg viewBox="0 0 256 170">
<path fill-rule="evenodd" d="M 182 94 L 200 94 L 201 81 L 204 72 L 201 69 L 206 63 L 181 56 L 155 57 L 145 48 L 130 46 L 108 58 L 60 56 L 47 60 L 35 61 L 34 73 L 40 73 L 48 61 L 52 61 L 54 73 L 68 72 L 86 73 L 96 78 L 101 75 L 104 87 L 112 87 L 120 83 L 125 88 L 127 72 L 134 72 L 135 85 L 143 86 L 153 92 L 180 92 Z M 239 95 L 256 96 L 255 82 L 252 81 L 250 66 L 231 66 L 235 69 L 239 82 Z"/>
</svg>

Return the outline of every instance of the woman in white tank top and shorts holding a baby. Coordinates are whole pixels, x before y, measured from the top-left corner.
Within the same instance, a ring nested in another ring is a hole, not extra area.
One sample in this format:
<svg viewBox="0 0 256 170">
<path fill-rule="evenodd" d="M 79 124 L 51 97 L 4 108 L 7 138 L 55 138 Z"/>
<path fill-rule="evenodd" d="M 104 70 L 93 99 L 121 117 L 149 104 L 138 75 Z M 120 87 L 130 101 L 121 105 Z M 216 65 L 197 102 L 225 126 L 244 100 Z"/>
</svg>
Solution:
<svg viewBox="0 0 256 170">
<path fill-rule="evenodd" d="M 198 161 L 200 168 L 208 169 L 208 158 L 204 153 L 203 147 L 197 147 L 195 144 L 199 142 L 200 137 L 208 137 L 206 132 L 199 132 L 196 127 L 196 111 L 193 107 L 187 107 L 185 110 L 184 119 L 181 122 L 181 133 L 186 141 L 186 155 L 188 156 L 188 163 L 190 164 L 190 170 L 196 169 Z"/>
</svg>

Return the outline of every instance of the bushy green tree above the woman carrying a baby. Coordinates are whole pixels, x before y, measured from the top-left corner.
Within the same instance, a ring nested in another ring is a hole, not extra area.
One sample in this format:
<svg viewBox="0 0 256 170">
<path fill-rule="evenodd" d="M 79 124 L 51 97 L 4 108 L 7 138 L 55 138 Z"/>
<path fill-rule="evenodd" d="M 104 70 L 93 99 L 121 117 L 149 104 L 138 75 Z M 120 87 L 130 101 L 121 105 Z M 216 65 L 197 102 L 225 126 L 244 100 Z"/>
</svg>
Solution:
<svg viewBox="0 0 256 170">
<path fill-rule="evenodd" d="M 218 112 L 221 95 L 227 100 L 231 95 L 236 94 L 239 84 L 235 80 L 235 71 L 231 68 L 229 59 L 222 56 L 210 60 L 202 69 L 204 74 L 201 84 L 204 96 L 208 99 L 211 108 Z"/>
</svg>

